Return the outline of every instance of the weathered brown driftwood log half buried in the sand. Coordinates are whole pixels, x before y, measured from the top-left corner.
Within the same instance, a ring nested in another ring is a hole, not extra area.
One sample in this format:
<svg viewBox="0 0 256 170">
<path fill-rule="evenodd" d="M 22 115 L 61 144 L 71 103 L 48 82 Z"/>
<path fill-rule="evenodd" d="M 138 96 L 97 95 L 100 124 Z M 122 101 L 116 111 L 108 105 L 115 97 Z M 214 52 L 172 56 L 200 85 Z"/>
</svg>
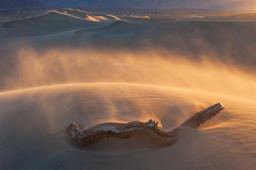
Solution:
<svg viewBox="0 0 256 170">
<path fill-rule="evenodd" d="M 149 120 L 146 123 L 139 121 L 126 124 L 102 123 L 84 130 L 80 130 L 75 123 L 72 123 L 66 128 L 66 132 L 82 145 L 87 145 L 108 137 L 126 139 L 133 135 L 140 135 L 159 145 L 171 145 L 176 142 L 176 137 L 181 127 L 188 126 L 191 128 L 198 128 L 202 123 L 205 123 L 211 117 L 214 117 L 224 108 L 225 107 L 221 103 L 210 106 L 189 117 L 185 122 L 169 132 L 162 131 L 162 129 L 158 127 L 158 122 L 153 120 Z"/>
</svg>

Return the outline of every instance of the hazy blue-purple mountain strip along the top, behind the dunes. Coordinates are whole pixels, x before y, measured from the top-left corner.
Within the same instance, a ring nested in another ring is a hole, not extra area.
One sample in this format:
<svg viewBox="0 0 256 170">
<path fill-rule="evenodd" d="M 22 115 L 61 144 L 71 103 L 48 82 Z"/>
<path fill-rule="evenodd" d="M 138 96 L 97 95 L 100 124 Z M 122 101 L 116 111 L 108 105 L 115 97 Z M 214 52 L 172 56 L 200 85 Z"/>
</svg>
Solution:
<svg viewBox="0 0 256 170">
<path fill-rule="evenodd" d="M 3 8 L 201 8 L 256 10 L 255 0 L 1 0 Z"/>
</svg>

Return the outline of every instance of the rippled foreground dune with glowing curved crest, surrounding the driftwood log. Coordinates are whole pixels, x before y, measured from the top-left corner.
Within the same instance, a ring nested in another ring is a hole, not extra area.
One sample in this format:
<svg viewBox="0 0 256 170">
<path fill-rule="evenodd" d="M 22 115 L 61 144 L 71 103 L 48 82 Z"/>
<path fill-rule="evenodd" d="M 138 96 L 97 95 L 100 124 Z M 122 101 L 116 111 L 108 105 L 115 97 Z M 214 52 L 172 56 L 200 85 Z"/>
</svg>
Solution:
<svg viewBox="0 0 256 170">
<path fill-rule="evenodd" d="M 158 149 L 140 138 L 110 138 L 81 148 L 65 134 L 71 122 L 86 128 L 106 121 L 148 118 L 169 129 L 217 101 L 226 105 L 225 111 L 199 131 L 183 129 L 179 142 L 169 148 Z M 5 92 L 0 94 L 0 125 L 8 129 L 1 131 L 5 157 L 0 164 L 3 169 L 79 168 L 88 164 L 98 169 L 126 165 L 133 169 L 253 169 L 254 106 L 254 102 L 136 84 L 71 84 Z M 142 163 L 144 160 L 147 163 Z M 128 165 L 127 161 L 133 163 Z"/>
</svg>

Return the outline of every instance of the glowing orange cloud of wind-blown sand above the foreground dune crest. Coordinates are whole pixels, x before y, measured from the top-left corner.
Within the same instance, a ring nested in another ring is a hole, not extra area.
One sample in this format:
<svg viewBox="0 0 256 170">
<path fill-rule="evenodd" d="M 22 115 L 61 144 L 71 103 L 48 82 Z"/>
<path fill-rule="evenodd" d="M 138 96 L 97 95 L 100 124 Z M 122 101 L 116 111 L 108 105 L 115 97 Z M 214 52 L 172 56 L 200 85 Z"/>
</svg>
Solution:
<svg viewBox="0 0 256 170">
<path fill-rule="evenodd" d="M 20 89 L 83 80 L 86 82 L 151 84 L 249 101 L 256 99 L 256 81 L 250 72 L 240 70 L 237 66 L 227 62 L 222 63 L 217 60 L 212 62 L 206 58 L 190 60 L 172 53 L 164 53 L 163 50 L 161 52 L 149 50 L 147 53 L 143 51 L 98 52 L 60 48 L 40 53 L 24 49 L 16 56 L 16 65 L 12 66 L 12 71 L 6 71 L 8 78 L 2 81 L 2 89 Z M 98 65 L 100 67 L 97 67 Z M 193 77 L 193 79 L 188 79 L 188 77 Z"/>
</svg>

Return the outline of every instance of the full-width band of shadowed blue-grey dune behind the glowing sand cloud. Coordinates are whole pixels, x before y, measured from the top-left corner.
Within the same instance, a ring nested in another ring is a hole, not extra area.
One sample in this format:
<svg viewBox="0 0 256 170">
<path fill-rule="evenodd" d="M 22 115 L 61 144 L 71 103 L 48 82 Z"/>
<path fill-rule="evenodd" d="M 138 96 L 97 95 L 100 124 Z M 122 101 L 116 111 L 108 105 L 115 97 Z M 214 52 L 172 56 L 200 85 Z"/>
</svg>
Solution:
<svg viewBox="0 0 256 170">
<path fill-rule="evenodd" d="M 254 21 L 166 21 L 140 24 L 123 20 L 95 22 L 54 12 L 50 14 L 68 19 L 40 21 L 28 18 L 11 21 L 15 23 L 12 25 L 2 23 L 0 41 L 4 42 L 3 47 L 8 49 L 24 44 L 36 48 L 66 45 L 119 50 L 160 47 L 189 58 L 213 57 L 242 67 L 254 67 L 256 64 L 256 37 L 252 36 L 256 35 Z M 25 39 L 13 41 L 14 37 Z"/>
</svg>

